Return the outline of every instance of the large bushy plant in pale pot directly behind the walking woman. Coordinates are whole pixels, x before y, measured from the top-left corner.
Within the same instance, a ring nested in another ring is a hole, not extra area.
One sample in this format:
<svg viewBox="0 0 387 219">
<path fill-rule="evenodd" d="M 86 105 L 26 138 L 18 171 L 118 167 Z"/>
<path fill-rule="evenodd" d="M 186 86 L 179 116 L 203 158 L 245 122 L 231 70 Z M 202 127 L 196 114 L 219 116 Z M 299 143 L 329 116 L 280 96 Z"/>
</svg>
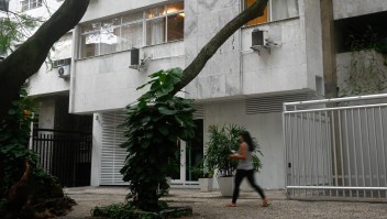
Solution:
<svg viewBox="0 0 387 219">
<path fill-rule="evenodd" d="M 218 125 L 209 127 L 210 136 L 207 143 L 206 161 L 211 169 L 217 169 L 217 179 L 222 196 L 232 196 L 233 176 L 236 171 L 237 161 L 231 160 L 230 154 L 232 151 L 239 150 L 237 136 L 244 130 L 244 127 L 236 124 L 225 124 L 222 128 Z M 253 152 L 254 169 L 259 172 L 262 163 L 256 153 L 262 155 L 262 152 L 255 140 L 254 143 L 256 144 Z"/>
</svg>

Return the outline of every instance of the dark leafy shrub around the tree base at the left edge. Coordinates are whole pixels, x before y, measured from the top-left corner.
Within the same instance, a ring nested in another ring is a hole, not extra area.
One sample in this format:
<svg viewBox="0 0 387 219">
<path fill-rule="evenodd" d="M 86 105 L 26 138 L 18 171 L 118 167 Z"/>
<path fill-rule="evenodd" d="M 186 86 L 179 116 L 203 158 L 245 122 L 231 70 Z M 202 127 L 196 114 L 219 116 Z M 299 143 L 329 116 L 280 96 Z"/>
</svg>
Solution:
<svg viewBox="0 0 387 219">
<path fill-rule="evenodd" d="M 0 215 L 14 213 L 10 217 L 31 218 L 33 211 L 45 210 L 46 206 L 42 202 L 52 198 L 63 198 L 64 194 L 57 178 L 36 166 L 38 155 L 27 147 L 35 110 L 33 99 L 27 97 L 25 89 L 21 89 L 19 98 L 12 103 L 13 108 L 9 110 L 7 119 L 0 122 Z M 21 194 L 21 196 L 30 197 L 26 202 L 29 208 L 15 206 L 23 211 L 9 212 L 10 205 L 14 204 L 7 199 L 8 193 L 23 175 L 25 160 L 32 168 L 27 184 L 25 184 L 29 194 Z M 40 207 L 31 210 L 34 206 Z M 67 207 L 70 208 L 70 206 Z"/>
</svg>

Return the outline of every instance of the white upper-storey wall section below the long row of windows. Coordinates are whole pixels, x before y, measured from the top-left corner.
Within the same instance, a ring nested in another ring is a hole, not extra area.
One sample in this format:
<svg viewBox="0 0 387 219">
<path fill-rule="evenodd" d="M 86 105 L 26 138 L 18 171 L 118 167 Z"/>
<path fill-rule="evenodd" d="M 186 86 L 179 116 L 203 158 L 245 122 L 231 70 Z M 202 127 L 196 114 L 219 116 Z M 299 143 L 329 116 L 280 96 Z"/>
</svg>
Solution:
<svg viewBox="0 0 387 219">
<path fill-rule="evenodd" d="M 146 91 L 136 88 L 147 81 L 150 74 L 184 67 L 184 42 L 147 46 L 141 50 L 141 56 L 151 57 L 145 72 L 129 68 L 130 51 L 78 59 L 73 73 L 70 112 L 122 109 L 134 102 Z"/>
</svg>

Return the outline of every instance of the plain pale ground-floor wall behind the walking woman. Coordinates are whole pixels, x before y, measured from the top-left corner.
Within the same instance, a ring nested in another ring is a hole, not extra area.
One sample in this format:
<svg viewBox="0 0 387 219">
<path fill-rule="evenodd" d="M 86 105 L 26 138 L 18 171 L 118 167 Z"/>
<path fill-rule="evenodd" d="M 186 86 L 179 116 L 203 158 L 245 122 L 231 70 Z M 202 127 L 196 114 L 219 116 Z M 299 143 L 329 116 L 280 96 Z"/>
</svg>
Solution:
<svg viewBox="0 0 387 219">
<path fill-rule="evenodd" d="M 211 124 L 234 123 L 243 125 L 256 138 L 264 154 L 263 168 L 255 174 L 257 183 L 264 188 L 285 187 L 284 140 L 281 113 L 246 114 L 245 100 L 213 102 L 204 105 L 204 142 L 209 141 L 207 129 Z M 217 187 L 217 183 L 214 185 Z"/>
</svg>

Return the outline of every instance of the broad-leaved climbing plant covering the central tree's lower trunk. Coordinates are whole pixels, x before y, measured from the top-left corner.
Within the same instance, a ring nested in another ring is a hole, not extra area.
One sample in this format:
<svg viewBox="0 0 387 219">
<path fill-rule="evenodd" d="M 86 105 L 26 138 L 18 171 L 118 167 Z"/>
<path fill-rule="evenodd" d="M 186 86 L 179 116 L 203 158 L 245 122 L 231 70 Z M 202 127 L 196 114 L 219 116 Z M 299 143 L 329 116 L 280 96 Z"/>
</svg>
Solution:
<svg viewBox="0 0 387 219">
<path fill-rule="evenodd" d="M 178 141 L 194 138 L 191 100 L 170 92 L 180 81 L 183 70 L 173 68 L 152 74 L 150 91 L 125 109 L 124 122 L 128 156 L 121 173 L 130 182 L 133 206 L 142 210 L 158 211 L 162 190 L 168 188 L 165 177 L 179 150 Z"/>
</svg>

